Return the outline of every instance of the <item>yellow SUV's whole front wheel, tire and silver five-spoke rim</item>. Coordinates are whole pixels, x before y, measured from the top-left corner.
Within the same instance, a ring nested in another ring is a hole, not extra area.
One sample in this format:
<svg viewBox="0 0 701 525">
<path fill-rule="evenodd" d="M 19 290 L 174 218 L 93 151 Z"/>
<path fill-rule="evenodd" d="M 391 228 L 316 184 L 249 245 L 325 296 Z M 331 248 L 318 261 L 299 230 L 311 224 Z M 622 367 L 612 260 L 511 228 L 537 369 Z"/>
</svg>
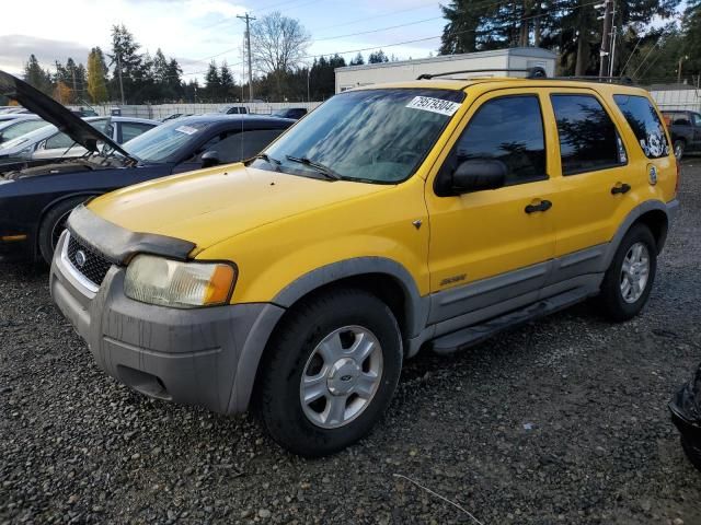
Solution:
<svg viewBox="0 0 701 525">
<path fill-rule="evenodd" d="M 295 307 L 261 364 L 257 408 L 285 448 L 314 457 L 365 436 L 390 404 L 402 368 L 391 310 L 359 290 Z"/>
</svg>

